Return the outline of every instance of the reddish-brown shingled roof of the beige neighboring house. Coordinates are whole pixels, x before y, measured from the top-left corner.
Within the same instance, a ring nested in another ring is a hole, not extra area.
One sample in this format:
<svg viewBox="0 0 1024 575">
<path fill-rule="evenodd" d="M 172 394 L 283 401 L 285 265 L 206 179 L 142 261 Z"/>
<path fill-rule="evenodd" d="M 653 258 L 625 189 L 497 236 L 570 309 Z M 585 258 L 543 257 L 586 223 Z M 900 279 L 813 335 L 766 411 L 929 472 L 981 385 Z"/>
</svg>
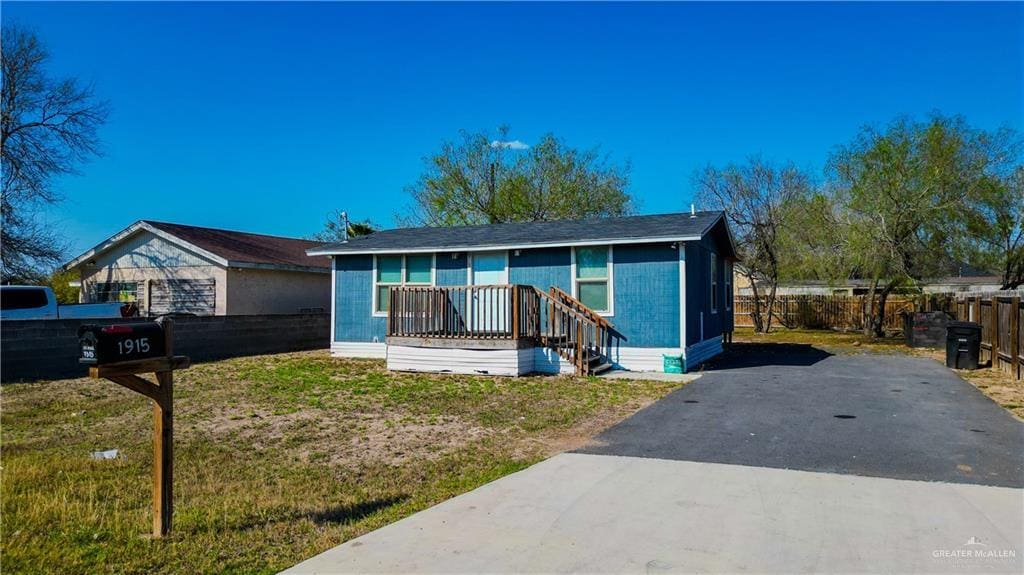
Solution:
<svg viewBox="0 0 1024 575">
<path fill-rule="evenodd" d="M 306 255 L 306 251 L 322 246 L 318 241 L 152 220 L 135 222 L 75 258 L 65 265 L 65 269 L 78 267 L 142 231 L 148 231 L 225 267 L 314 272 L 327 272 L 330 269 L 330 262 L 326 258 Z"/>
</svg>

